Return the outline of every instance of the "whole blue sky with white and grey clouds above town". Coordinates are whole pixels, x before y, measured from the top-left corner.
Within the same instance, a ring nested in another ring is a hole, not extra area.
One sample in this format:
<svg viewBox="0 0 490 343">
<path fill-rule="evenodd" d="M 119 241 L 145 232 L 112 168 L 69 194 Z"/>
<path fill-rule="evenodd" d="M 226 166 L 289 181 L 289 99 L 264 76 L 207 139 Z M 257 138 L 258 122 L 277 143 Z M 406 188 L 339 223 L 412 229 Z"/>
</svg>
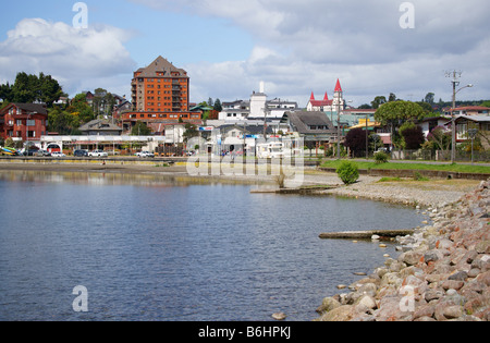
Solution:
<svg viewBox="0 0 490 343">
<path fill-rule="evenodd" d="M 490 99 L 488 0 L 16 0 L 0 13 L 0 83 L 52 75 L 70 96 L 131 98 L 133 72 L 158 56 L 187 71 L 191 101 L 269 99 L 351 106 L 394 93 Z"/>
</svg>

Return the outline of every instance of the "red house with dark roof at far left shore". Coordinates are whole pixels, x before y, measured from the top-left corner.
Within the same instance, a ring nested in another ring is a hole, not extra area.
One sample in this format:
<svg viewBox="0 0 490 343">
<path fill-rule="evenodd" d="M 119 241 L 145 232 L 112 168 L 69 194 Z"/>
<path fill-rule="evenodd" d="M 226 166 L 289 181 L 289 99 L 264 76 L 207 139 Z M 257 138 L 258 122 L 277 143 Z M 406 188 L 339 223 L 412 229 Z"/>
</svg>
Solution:
<svg viewBox="0 0 490 343">
<path fill-rule="evenodd" d="M 0 110 L 0 136 L 39 143 L 48 132 L 48 110 L 40 103 L 10 103 Z"/>
</svg>

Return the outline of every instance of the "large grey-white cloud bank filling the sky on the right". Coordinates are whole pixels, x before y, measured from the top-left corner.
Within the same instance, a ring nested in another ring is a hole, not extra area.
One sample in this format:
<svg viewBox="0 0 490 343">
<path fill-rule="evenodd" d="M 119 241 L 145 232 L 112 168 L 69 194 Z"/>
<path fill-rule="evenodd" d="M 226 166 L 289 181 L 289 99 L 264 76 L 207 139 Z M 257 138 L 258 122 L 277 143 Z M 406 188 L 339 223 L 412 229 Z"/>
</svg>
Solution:
<svg viewBox="0 0 490 343">
<path fill-rule="evenodd" d="M 490 96 L 487 0 L 412 0 L 413 29 L 400 26 L 404 0 L 132 1 L 224 19 L 252 35 L 256 46 L 242 61 L 188 65 L 194 95 L 201 97 L 196 101 L 247 97 L 264 79 L 270 96 L 304 106 L 311 90 L 332 94 L 338 77 L 355 105 L 390 91 L 413 100 L 433 91 L 450 100 L 444 71 L 451 69 L 475 84 L 458 97 Z"/>
</svg>

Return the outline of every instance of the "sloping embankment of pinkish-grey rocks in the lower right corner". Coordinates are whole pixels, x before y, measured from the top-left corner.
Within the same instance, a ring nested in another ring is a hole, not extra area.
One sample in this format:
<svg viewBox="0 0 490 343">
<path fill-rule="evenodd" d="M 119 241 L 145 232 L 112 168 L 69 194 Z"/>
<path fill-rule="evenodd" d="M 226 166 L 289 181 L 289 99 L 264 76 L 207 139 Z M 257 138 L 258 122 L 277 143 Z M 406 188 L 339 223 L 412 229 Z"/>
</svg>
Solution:
<svg viewBox="0 0 490 343">
<path fill-rule="evenodd" d="M 401 255 L 323 299 L 320 321 L 489 321 L 490 182 L 397 237 Z"/>
</svg>

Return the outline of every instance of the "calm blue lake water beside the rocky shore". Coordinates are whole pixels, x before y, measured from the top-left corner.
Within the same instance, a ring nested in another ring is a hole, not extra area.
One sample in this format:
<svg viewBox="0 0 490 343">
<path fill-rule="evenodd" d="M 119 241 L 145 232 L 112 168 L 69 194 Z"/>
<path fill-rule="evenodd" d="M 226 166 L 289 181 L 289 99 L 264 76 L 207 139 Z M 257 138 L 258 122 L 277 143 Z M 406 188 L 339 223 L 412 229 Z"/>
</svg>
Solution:
<svg viewBox="0 0 490 343">
<path fill-rule="evenodd" d="M 317 318 L 394 246 L 321 232 L 408 229 L 412 208 L 254 185 L 0 172 L 0 320 Z M 75 286 L 88 311 L 74 311 Z"/>
</svg>

